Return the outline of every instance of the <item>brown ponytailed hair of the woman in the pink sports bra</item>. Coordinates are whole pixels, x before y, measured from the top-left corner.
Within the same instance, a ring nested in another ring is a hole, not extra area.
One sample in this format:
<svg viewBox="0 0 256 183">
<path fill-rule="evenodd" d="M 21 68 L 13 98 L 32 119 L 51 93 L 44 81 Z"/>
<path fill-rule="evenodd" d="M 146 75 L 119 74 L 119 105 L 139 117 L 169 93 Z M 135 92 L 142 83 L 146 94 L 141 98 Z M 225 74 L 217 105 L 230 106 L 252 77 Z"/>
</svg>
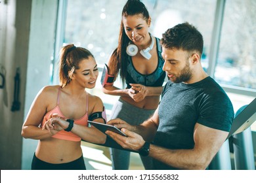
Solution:
<svg viewBox="0 0 256 183">
<path fill-rule="evenodd" d="M 59 63 L 59 79 L 60 86 L 63 88 L 70 83 L 70 76 L 73 75 L 76 69 L 79 69 L 79 63 L 83 59 L 93 57 L 93 54 L 85 48 L 75 47 L 74 44 L 63 46 L 60 50 Z M 94 57 L 93 57 L 94 58 Z"/>
</svg>

